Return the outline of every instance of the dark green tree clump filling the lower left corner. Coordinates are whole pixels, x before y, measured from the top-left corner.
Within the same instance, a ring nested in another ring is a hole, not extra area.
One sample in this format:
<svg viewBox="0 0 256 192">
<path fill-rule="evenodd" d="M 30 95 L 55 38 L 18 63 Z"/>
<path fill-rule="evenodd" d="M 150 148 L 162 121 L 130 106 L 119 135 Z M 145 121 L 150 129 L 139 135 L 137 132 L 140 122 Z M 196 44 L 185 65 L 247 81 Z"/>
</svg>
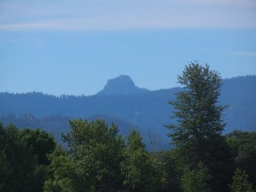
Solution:
<svg viewBox="0 0 256 192">
<path fill-rule="evenodd" d="M 43 191 L 49 177 L 46 154 L 55 142 L 45 131 L 0 125 L 0 192 Z"/>
</svg>

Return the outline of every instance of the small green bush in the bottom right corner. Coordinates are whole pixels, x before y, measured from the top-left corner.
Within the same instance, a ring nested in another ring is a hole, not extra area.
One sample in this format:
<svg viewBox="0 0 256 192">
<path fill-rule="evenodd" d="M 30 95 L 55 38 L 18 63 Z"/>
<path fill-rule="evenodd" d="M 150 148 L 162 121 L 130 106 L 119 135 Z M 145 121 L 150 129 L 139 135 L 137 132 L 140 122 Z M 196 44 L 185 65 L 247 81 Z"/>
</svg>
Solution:
<svg viewBox="0 0 256 192">
<path fill-rule="evenodd" d="M 240 168 L 237 168 L 230 185 L 231 192 L 253 192 L 253 185 L 248 182 L 247 177 L 245 171 L 242 172 Z"/>
</svg>

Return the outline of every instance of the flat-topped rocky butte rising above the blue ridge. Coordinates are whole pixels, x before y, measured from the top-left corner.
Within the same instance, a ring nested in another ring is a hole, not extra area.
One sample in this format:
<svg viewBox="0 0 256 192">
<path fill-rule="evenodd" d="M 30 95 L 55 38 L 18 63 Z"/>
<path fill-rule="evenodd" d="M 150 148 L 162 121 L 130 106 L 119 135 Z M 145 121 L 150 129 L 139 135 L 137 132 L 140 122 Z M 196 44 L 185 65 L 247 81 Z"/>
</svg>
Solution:
<svg viewBox="0 0 256 192">
<path fill-rule="evenodd" d="M 99 96 L 131 96 L 146 93 L 148 90 L 138 88 L 127 75 L 109 79 L 104 89 L 97 93 Z"/>
</svg>

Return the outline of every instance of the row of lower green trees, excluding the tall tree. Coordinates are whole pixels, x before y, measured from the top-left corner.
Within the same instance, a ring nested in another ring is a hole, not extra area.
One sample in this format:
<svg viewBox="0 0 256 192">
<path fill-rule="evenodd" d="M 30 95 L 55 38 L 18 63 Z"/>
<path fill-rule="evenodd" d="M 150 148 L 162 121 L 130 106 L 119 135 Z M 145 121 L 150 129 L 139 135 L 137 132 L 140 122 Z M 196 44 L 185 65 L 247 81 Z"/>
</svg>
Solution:
<svg viewBox="0 0 256 192">
<path fill-rule="evenodd" d="M 45 131 L 0 125 L 0 191 L 213 191 L 195 185 L 208 187 L 207 167 L 182 170 L 175 148 L 149 153 L 137 131 L 123 137 L 101 120 L 70 123 L 70 133 L 62 136 L 68 147 Z M 215 191 L 253 191 L 256 133 L 233 131 L 223 138 L 226 148 L 220 155 L 227 161 L 212 162 L 221 166 L 218 179 L 224 183 L 216 184 L 224 189 Z"/>
</svg>

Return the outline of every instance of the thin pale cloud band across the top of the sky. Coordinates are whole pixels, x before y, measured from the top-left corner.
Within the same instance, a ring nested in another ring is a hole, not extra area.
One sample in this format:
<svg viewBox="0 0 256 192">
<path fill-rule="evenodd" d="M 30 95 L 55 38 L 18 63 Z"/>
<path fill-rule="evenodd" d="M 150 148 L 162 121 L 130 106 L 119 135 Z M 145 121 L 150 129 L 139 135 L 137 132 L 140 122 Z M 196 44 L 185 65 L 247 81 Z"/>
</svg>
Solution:
<svg viewBox="0 0 256 192">
<path fill-rule="evenodd" d="M 0 31 L 102 31 L 173 27 L 256 28 L 250 0 L 0 3 Z"/>
</svg>

